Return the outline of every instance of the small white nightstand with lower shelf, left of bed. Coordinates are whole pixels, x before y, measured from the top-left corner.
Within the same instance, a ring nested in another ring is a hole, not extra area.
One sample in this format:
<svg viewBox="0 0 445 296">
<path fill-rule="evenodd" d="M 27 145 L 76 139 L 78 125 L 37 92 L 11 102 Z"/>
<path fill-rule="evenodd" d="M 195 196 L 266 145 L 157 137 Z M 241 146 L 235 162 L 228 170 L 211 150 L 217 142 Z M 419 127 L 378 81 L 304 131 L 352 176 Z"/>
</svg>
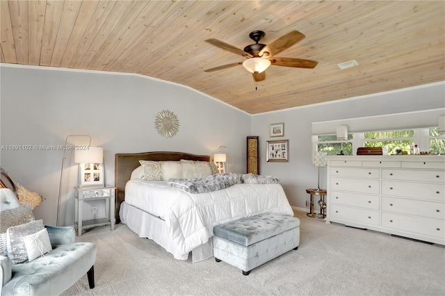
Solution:
<svg viewBox="0 0 445 296">
<path fill-rule="evenodd" d="M 99 186 L 99 187 L 74 187 L 74 227 L 82 235 L 82 229 L 110 225 L 111 231 L 114 230 L 114 224 L 116 222 L 114 217 L 115 212 L 115 187 L 112 186 Z M 83 202 L 90 202 L 92 200 L 104 200 L 105 201 L 105 215 L 106 217 L 82 220 Z"/>
</svg>

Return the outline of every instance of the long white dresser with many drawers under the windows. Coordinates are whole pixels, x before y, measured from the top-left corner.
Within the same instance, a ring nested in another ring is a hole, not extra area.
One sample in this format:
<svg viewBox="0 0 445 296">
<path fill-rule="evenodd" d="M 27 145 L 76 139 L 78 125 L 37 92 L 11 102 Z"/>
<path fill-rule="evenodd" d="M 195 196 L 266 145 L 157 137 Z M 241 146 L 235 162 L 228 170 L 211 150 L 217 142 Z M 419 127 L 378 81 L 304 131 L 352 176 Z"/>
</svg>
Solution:
<svg viewBox="0 0 445 296">
<path fill-rule="evenodd" d="M 445 156 L 328 156 L 325 220 L 445 245 Z"/>
</svg>

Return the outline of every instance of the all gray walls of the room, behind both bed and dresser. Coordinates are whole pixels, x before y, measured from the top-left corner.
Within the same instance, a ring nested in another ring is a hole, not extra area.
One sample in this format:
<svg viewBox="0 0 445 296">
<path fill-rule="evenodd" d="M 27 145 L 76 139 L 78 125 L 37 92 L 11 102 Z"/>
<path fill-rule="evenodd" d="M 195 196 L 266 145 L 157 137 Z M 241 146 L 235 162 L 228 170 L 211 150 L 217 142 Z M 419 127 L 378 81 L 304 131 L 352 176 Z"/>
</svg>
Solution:
<svg viewBox="0 0 445 296">
<path fill-rule="evenodd" d="M 357 99 L 248 115 L 181 85 L 142 76 L 74 72 L 1 64 L 0 144 L 63 145 L 67 135 L 91 135 L 104 148 L 106 183 L 114 183 L 114 154 L 141 151 L 185 151 L 212 155 L 226 146 L 230 172 L 245 172 L 245 138 L 259 135 L 260 172 L 278 176 L 291 206 L 305 208 L 306 188 L 316 188 L 312 165 L 312 122 L 444 108 L 444 84 Z M 298 98 L 296 98 L 298 99 Z M 163 138 L 154 129 L 161 110 L 179 118 L 179 133 Z M 269 124 L 284 122 L 284 137 L 269 138 Z M 289 139 L 289 162 L 267 163 L 266 141 Z M 85 144 L 84 138 L 70 138 Z M 60 224 L 74 221 L 78 167 L 67 151 Z M 56 224 L 63 151 L 1 150 L 1 166 L 26 188 L 46 198 L 35 216 Z M 321 185 L 325 184 L 321 168 Z M 324 185 L 325 186 L 325 185 Z M 102 215 L 101 204 L 97 206 Z M 90 215 L 90 208 L 84 211 Z"/>
</svg>

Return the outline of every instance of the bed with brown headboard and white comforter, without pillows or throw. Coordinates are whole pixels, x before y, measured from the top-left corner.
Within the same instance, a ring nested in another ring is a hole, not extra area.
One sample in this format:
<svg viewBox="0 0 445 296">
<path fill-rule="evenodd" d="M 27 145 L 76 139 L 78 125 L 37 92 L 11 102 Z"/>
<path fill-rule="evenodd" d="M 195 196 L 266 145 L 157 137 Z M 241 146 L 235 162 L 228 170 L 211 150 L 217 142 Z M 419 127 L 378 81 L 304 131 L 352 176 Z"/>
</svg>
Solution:
<svg viewBox="0 0 445 296">
<path fill-rule="evenodd" d="M 178 260 L 187 260 L 190 253 L 193 262 L 213 256 L 216 224 L 266 212 L 293 215 L 279 183 L 236 183 L 193 194 L 168 181 L 146 181 L 134 175 L 135 169 L 140 172 L 139 161 L 181 160 L 209 163 L 210 156 L 163 151 L 115 154 L 118 222 L 141 238 L 154 240 Z"/>
</svg>

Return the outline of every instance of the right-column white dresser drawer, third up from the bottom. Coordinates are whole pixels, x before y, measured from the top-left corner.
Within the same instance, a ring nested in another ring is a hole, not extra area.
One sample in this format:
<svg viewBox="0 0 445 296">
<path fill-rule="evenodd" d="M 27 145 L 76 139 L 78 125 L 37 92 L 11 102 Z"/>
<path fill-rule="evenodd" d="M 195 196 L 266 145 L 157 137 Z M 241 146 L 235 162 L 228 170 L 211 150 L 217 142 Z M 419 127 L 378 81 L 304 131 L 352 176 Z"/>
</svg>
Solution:
<svg viewBox="0 0 445 296">
<path fill-rule="evenodd" d="M 403 181 L 382 181 L 382 195 L 430 199 L 445 202 L 445 185 L 441 183 L 415 183 Z"/>
</svg>

